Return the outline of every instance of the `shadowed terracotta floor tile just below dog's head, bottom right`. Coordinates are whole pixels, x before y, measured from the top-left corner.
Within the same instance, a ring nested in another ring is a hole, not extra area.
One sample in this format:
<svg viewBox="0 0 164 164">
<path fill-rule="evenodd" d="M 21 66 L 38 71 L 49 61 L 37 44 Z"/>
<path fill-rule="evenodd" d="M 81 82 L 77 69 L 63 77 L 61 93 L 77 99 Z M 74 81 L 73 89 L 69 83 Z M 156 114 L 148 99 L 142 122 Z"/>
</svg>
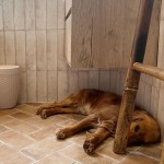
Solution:
<svg viewBox="0 0 164 164">
<path fill-rule="evenodd" d="M 162 153 L 162 148 L 156 147 L 155 144 L 153 145 L 143 145 L 141 149 L 139 149 L 139 152 L 148 155 L 148 156 L 153 156 L 157 160 L 161 159 L 161 153 Z"/>
</svg>

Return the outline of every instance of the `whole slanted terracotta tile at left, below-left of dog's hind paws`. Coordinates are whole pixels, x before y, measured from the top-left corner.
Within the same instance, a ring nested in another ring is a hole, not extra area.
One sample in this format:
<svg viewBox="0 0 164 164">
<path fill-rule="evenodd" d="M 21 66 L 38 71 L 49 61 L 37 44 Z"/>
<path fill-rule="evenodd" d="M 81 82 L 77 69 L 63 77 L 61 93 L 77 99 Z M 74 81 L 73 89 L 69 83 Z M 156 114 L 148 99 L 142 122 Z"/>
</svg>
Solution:
<svg viewBox="0 0 164 164">
<path fill-rule="evenodd" d="M 26 134 L 38 130 L 38 128 L 36 128 L 32 125 L 28 125 L 26 122 L 23 122 L 21 120 L 16 120 L 16 119 L 5 124 L 7 127 L 9 127 L 13 130 L 16 130 L 19 132 L 26 133 Z"/>
</svg>

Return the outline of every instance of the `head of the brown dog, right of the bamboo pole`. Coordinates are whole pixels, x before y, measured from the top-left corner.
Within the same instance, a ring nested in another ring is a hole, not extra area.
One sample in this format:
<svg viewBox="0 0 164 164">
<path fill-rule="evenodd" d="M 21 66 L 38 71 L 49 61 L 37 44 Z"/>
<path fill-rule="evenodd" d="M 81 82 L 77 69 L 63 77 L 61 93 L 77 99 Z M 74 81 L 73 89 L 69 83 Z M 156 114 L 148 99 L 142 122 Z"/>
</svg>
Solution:
<svg viewBox="0 0 164 164">
<path fill-rule="evenodd" d="M 156 120 L 147 112 L 134 113 L 130 126 L 128 144 L 151 143 L 160 140 L 161 131 Z"/>
</svg>

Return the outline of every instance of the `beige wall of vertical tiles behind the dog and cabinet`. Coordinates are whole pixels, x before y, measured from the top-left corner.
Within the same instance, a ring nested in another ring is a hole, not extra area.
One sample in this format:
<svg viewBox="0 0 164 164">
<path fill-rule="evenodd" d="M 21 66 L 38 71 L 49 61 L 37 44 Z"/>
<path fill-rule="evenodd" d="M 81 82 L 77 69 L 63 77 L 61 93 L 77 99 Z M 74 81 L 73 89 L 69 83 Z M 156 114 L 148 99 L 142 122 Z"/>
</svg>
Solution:
<svg viewBox="0 0 164 164">
<path fill-rule="evenodd" d="M 164 11 L 164 0 L 163 0 Z M 0 0 L 0 65 L 21 66 L 20 102 L 51 102 L 83 87 L 122 92 L 125 70 L 72 70 L 63 57 L 65 0 Z M 159 67 L 164 68 L 164 12 Z M 137 103 L 164 127 L 164 83 L 142 75 Z"/>
</svg>

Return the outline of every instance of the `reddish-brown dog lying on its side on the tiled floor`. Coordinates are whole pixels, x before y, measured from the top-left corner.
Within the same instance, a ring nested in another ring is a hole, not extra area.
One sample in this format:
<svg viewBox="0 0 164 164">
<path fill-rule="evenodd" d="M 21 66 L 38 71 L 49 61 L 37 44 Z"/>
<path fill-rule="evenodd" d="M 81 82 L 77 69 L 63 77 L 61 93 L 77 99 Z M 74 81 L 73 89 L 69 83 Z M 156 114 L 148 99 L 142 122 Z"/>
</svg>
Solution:
<svg viewBox="0 0 164 164">
<path fill-rule="evenodd" d="M 42 118 L 55 114 L 80 114 L 86 117 L 63 129 L 56 134 L 58 139 L 66 139 L 85 128 L 96 128 L 92 133 L 86 133 L 83 148 L 87 154 L 92 154 L 102 141 L 115 134 L 121 97 L 98 90 L 82 90 L 70 95 L 66 99 L 47 106 L 42 106 L 37 115 Z M 160 127 L 148 112 L 136 107 L 130 126 L 128 143 L 148 143 L 160 140 Z"/>
</svg>

